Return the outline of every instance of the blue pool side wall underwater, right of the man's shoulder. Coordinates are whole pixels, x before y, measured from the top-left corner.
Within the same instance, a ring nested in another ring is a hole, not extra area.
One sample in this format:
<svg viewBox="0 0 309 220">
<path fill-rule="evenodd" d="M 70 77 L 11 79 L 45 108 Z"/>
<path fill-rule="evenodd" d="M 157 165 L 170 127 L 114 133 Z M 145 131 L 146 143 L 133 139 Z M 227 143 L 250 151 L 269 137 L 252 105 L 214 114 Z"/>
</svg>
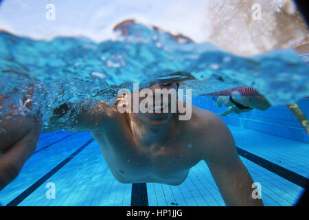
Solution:
<svg viewBox="0 0 309 220">
<path fill-rule="evenodd" d="M 213 111 L 218 115 L 227 109 L 227 107 L 216 107 L 216 102 L 205 96 L 193 98 L 192 102 L 196 106 Z M 309 99 L 304 98 L 299 100 L 297 104 L 308 118 Z M 309 143 L 308 133 L 304 130 L 301 124 L 299 124 L 295 115 L 293 115 L 286 105 L 270 107 L 266 111 L 253 109 L 252 111 L 241 114 L 231 113 L 227 116 L 221 116 L 221 118 L 225 123 L 243 129 L 252 129 L 262 133 Z"/>
</svg>

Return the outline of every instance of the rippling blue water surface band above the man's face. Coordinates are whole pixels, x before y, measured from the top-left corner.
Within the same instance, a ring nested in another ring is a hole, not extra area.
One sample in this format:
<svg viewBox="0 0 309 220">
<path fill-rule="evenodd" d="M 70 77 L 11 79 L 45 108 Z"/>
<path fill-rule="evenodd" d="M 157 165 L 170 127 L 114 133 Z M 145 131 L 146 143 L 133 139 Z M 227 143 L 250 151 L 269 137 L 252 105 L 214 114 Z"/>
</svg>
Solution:
<svg viewBox="0 0 309 220">
<path fill-rule="evenodd" d="M 0 115 L 13 103 L 24 109 L 20 100 L 30 85 L 33 107 L 27 113 L 41 113 L 44 126 L 60 104 L 86 99 L 112 104 L 118 90 L 133 91 L 133 83 L 143 89 L 181 80 L 180 88 L 192 89 L 193 97 L 245 85 L 273 105 L 308 96 L 308 56 L 300 58 L 292 49 L 244 57 L 140 23 L 118 29 L 117 39 L 100 43 L 85 37 L 38 41 L 0 31 L 0 79 L 5 82 L 0 94 L 6 99 Z"/>
</svg>

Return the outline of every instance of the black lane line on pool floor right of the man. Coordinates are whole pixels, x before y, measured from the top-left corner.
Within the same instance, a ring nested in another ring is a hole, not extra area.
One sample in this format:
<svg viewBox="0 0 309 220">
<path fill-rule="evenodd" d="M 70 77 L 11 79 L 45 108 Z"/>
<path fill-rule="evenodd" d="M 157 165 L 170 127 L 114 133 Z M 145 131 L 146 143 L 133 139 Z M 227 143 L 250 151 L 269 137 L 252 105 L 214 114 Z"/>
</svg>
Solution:
<svg viewBox="0 0 309 220">
<path fill-rule="evenodd" d="M 288 181 L 293 182 L 293 184 L 296 184 L 297 186 L 301 186 L 302 188 L 306 187 L 306 184 L 308 183 L 308 179 L 306 177 L 299 175 L 291 170 L 288 170 L 282 166 L 274 164 L 273 162 L 263 159 L 262 157 L 254 155 L 253 153 L 244 151 L 242 148 L 239 148 L 239 147 L 236 147 L 236 148 L 237 148 L 238 155 L 246 159 L 249 159 L 251 162 L 258 164 L 259 166 L 262 166 L 263 168 L 266 168 L 267 170 L 279 175 L 280 177 L 283 177 L 284 179 Z"/>
</svg>

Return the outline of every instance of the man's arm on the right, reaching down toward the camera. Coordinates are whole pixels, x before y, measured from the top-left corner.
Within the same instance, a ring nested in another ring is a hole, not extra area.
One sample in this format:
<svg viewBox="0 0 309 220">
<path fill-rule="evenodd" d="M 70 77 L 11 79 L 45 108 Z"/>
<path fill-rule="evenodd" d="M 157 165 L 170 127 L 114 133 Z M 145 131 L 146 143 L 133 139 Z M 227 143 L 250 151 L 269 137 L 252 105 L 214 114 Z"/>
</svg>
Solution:
<svg viewBox="0 0 309 220">
<path fill-rule="evenodd" d="M 253 199 L 253 180 L 242 164 L 235 142 L 225 123 L 213 115 L 209 122 L 209 146 L 203 148 L 203 158 L 214 177 L 227 206 L 263 206 L 262 199 Z"/>
</svg>

